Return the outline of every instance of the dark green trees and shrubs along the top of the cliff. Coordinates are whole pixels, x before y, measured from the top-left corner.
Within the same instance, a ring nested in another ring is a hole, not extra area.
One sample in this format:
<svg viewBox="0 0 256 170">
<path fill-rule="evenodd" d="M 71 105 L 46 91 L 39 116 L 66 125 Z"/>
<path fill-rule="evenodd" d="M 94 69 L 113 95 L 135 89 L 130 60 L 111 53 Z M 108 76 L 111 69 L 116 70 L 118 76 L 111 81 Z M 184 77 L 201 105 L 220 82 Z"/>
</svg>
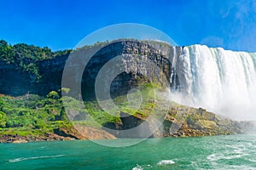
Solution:
<svg viewBox="0 0 256 170">
<path fill-rule="evenodd" d="M 89 50 L 90 48 L 102 48 L 110 43 L 119 42 L 119 41 L 138 41 L 136 39 L 118 39 L 113 40 L 111 42 L 96 42 L 92 45 L 85 45 L 83 47 L 77 48 L 76 52 L 79 53 L 80 50 Z M 149 43 L 152 45 L 159 46 L 168 46 L 166 42 L 155 42 L 155 41 L 142 41 L 145 43 Z M 15 45 L 11 45 L 4 40 L 0 40 L 0 61 L 4 61 L 8 64 L 14 64 L 17 69 L 21 69 L 21 71 L 28 71 L 32 74 L 35 74 L 38 80 L 42 77 L 39 71 L 39 61 L 46 59 L 54 59 L 55 57 L 63 57 L 68 54 L 73 53 L 73 50 L 66 49 L 53 52 L 50 48 L 44 47 L 36 47 L 34 45 L 27 45 L 25 43 L 17 43 Z"/>
</svg>

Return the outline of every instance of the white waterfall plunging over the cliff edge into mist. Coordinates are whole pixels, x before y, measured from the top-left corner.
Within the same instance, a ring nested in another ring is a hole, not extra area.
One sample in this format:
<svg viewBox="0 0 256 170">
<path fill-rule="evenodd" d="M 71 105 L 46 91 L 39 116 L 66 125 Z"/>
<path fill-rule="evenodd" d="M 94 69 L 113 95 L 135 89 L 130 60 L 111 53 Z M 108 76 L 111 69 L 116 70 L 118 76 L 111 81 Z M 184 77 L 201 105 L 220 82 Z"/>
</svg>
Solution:
<svg viewBox="0 0 256 170">
<path fill-rule="evenodd" d="M 256 54 L 193 45 L 176 58 L 181 103 L 256 120 Z"/>
</svg>

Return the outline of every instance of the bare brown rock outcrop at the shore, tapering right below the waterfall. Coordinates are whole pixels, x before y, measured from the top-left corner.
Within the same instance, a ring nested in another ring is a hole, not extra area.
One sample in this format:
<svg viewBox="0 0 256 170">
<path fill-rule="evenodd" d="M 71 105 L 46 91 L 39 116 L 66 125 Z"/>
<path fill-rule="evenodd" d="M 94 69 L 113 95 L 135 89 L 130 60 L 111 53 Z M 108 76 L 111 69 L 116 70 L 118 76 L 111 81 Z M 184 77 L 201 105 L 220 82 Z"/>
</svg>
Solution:
<svg viewBox="0 0 256 170">
<path fill-rule="evenodd" d="M 171 109 L 159 120 L 160 127 L 154 128 L 154 122 L 148 117 L 132 116 L 121 112 L 121 122 L 107 123 L 103 129 L 118 138 L 148 137 L 186 137 L 211 136 L 220 134 L 245 133 L 245 123 L 232 121 L 204 109 L 184 105 L 172 105 Z M 250 127 L 247 125 L 247 127 Z"/>
</svg>

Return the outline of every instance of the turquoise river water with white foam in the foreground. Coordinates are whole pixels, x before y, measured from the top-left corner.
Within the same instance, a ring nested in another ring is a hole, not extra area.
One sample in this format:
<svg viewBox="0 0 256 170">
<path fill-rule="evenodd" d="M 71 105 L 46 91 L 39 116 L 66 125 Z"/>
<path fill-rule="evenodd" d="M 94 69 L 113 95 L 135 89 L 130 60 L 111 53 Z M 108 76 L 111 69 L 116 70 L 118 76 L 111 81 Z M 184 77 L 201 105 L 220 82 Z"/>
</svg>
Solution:
<svg viewBox="0 0 256 170">
<path fill-rule="evenodd" d="M 124 148 L 110 148 L 87 140 L 0 144 L 0 166 L 0 169 L 256 169 L 256 135 L 147 139 Z"/>
</svg>

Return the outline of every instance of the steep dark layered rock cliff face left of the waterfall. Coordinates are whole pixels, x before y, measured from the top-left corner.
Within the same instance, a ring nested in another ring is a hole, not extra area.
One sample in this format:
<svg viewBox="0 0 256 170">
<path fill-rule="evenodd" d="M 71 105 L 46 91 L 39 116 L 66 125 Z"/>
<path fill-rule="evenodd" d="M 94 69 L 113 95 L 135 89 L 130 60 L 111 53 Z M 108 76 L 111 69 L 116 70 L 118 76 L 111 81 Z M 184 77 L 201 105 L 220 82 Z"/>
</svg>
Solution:
<svg viewBox="0 0 256 170">
<path fill-rule="evenodd" d="M 141 82 L 156 82 L 161 86 L 177 86 L 176 82 L 170 81 L 173 69 L 172 63 L 174 54 L 180 53 L 181 48 L 172 48 L 167 44 L 137 42 L 137 41 L 120 41 L 108 44 L 101 48 L 90 59 L 81 80 L 76 77 L 75 71 L 83 70 L 84 61 L 90 54 L 91 48 L 84 48 L 82 50 L 74 51 L 73 57 L 76 62 L 69 63 L 68 69 L 71 75 L 64 84 L 66 88 L 70 84 L 82 82 L 82 90 L 86 94 L 94 91 L 96 76 L 102 69 L 102 66 L 108 63 L 111 59 L 120 56 L 118 62 L 121 67 L 124 67 L 124 72 L 116 75 L 111 84 L 111 91 L 113 94 L 126 92 L 129 88 L 137 86 L 138 80 Z M 0 62 L 0 94 L 9 94 L 13 96 L 24 94 L 48 94 L 49 91 L 59 90 L 61 88 L 61 78 L 64 66 L 68 56 L 56 57 L 55 59 L 48 59 L 38 61 L 38 69 L 40 78 L 29 71 L 24 71 L 13 64 L 8 64 L 4 61 Z M 116 65 L 113 65 L 116 66 Z M 111 70 L 109 70 L 111 71 Z M 104 74 L 108 79 L 108 73 Z M 163 77 L 166 81 L 163 81 Z M 166 84 L 166 82 L 168 84 Z M 172 83 L 171 83 L 172 82 Z M 170 84 L 171 83 L 171 84 Z M 71 89 L 72 90 L 72 89 Z M 73 92 L 74 95 L 76 92 Z"/>
</svg>

